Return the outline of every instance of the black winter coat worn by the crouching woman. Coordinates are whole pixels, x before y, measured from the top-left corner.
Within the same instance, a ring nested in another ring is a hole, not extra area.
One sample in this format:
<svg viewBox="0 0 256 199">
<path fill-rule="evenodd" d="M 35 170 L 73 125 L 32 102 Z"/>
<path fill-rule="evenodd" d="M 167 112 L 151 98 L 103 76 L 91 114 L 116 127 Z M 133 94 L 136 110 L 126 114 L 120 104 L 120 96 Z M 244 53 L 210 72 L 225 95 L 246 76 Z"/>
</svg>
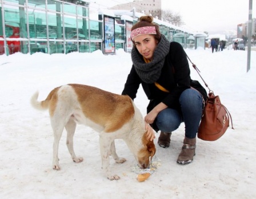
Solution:
<svg viewBox="0 0 256 199">
<path fill-rule="evenodd" d="M 129 95 L 131 99 L 136 98 L 139 85 L 142 84 L 142 88 L 147 98 L 150 100 L 147 113 L 161 102 L 166 104 L 169 108 L 180 110 L 179 96 L 184 90 L 191 86 L 200 91 L 205 99 L 207 96 L 201 84 L 190 79 L 190 68 L 187 62 L 186 52 L 183 50 L 181 44 L 177 42 L 170 43 L 169 54 L 165 57 L 161 76 L 157 80 L 157 83 L 166 88 L 169 92 L 159 90 L 154 83 L 149 84 L 143 82 L 141 78 L 139 78 L 133 65 L 127 77 L 122 95 Z"/>
</svg>

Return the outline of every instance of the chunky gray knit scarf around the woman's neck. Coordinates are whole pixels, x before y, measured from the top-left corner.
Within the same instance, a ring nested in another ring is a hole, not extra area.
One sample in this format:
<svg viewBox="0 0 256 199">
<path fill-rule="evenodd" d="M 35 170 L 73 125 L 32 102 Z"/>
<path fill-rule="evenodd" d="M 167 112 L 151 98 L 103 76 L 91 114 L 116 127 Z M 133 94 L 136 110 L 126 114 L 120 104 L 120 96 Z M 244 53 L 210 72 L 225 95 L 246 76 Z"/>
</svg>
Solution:
<svg viewBox="0 0 256 199">
<path fill-rule="evenodd" d="M 162 35 L 160 42 L 155 48 L 153 60 L 150 63 L 145 63 L 143 56 L 139 54 L 137 48 L 133 47 L 131 50 L 131 60 L 133 61 L 135 71 L 143 82 L 154 83 L 159 79 L 169 48 L 169 40 L 165 38 L 165 35 Z"/>
</svg>

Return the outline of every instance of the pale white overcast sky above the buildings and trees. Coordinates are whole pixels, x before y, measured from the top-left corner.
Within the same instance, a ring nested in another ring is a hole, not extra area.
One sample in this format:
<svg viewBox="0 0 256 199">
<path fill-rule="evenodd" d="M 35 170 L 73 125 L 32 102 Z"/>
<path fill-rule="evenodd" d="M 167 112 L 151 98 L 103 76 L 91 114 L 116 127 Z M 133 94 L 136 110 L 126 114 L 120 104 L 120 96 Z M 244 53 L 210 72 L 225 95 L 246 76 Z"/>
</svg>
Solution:
<svg viewBox="0 0 256 199">
<path fill-rule="evenodd" d="M 132 1 L 91 0 L 90 2 L 93 7 L 107 9 Z M 162 0 L 162 9 L 181 15 L 182 21 L 193 31 L 237 30 L 239 23 L 245 23 L 249 19 L 249 0 Z M 256 0 L 253 1 L 253 18 L 256 18 Z"/>
</svg>

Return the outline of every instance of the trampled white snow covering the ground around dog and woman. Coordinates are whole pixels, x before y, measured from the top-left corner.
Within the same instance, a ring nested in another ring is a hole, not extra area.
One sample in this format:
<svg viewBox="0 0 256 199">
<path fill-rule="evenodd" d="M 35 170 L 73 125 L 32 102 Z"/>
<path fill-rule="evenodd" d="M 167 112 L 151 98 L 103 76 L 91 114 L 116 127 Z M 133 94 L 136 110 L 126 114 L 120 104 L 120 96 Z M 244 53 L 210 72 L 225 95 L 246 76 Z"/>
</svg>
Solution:
<svg viewBox="0 0 256 199">
<path fill-rule="evenodd" d="M 14 54 L 0 56 L 0 198 L 254 198 L 256 196 L 256 51 L 186 49 L 215 95 L 229 109 L 235 130 L 221 139 L 197 139 L 193 163 L 176 163 L 184 126 L 173 132 L 170 148 L 157 145 L 161 166 L 145 182 L 138 182 L 132 168 L 135 160 L 123 140 L 116 140 L 117 153 L 127 161 L 111 169 L 121 179 L 110 181 L 101 169 L 97 132 L 78 125 L 74 148 L 84 158 L 75 164 L 67 151 L 63 132 L 59 147 L 62 169 L 51 169 L 53 133 L 48 112 L 30 105 L 62 84 L 81 83 L 121 94 L 131 68 L 130 54 L 73 52 L 63 54 Z M 191 64 L 190 64 L 191 66 Z M 191 67 L 191 78 L 202 83 Z M 203 83 L 202 83 L 203 84 Z M 135 104 L 146 115 L 149 100 L 141 88 Z"/>
</svg>

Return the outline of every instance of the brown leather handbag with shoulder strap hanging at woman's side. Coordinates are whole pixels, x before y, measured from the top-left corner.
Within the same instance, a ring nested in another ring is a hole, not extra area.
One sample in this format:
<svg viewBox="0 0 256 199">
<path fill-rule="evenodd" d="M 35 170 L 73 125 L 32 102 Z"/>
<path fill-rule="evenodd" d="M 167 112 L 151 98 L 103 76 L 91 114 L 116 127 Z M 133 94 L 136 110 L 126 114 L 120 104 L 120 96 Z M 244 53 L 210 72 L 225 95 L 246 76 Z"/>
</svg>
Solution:
<svg viewBox="0 0 256 199">
<path fill-rule="evenodd" d="M 189 59 L 189 57 L 187 56 Z M 189 59 L 190 60 L 190 59 Z M 191 60 L 190 60 L 191 62 Z M 191 62 L 192 63 L 192 62 Z M 198 75 L 203 80 L 202 76 L 199 74 L 199 70 L 194 63 L 192 63 L 195 70 L 198 72 Z M 209 89 L 209 94 L 205 101 L 205 107 L 203 109 L 201 123 L 198 128 L 197 137 L 206 141 L 215 141 L 221 137 L 229 127 L 231 121 L 231 126 L 233 128 L 232 117 L 225 107 L 221 103 L 219 96 L 215 96 L 213 91 L 210 90 L 205 80 L 203 80 L 205 86 Z"/>
</svg>

